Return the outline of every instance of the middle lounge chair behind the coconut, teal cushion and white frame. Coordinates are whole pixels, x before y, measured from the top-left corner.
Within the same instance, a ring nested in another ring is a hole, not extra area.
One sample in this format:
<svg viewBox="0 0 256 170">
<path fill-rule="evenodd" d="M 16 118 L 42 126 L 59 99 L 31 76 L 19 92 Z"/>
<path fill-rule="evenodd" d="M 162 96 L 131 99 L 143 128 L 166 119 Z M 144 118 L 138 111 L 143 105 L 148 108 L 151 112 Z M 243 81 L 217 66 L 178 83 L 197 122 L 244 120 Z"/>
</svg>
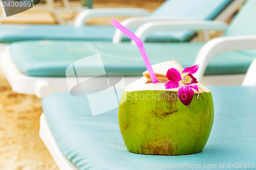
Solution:
<svg viewBox="0 0 256 170">
<path fill-rule="evenodd" d="M 227 36 L 222 37 L 222 40 L 231 38 L 228 37 L 231 35 L 256 34 L 255 22 L 251 22 L 254 19 L 255 8 L 256 2 L 248 1 L 227 28 L 225 31 Z M 213 21 L 214 24 L 211 21 L 195 22 L 193 26 L 198 29 L 217 28 L 224 30 L 227 27 L 224 23 L 217 21 Z M 175 24 L 177 23 L 176 21 Z M 244 38 L 244 43 L 246 43 L 247 38 Z M 215 42 L 218 42 L 218 39 Z M 191 66 L 195 62 L 196 56 L 203 45 L 203 43 L 144 44 L 152 64 L 175 59 L 183 67 Z M 246 45 L 243 47 L 233 48 L 232 50 L 247 48 Z M 220 49 L 225 51 L 223 48 Z M 1 64 L 13 91 L 44 97 L 51 93 L 67 91 L 69 88 L 67 86 L 66 68 L 73 62 L 97 53 L 101 54 L 105 71 L 119 72 L 125 76 L 126 84 L 138 79 L 145 70 L 145 65 L 137 47 L 129 42 L 119 44 L 81 41 L 17 42 L 11 44 L 10 50 L 2 54 Z M 202 82 L 219 85 L 227 83 L 241 84 L 244 74 L 254 58 L 254 51 L 220 53 L 208 63 L 206 76 L 202 79 Z M 82 71 L 80 76 L 91 77 L 93 72 L 99 69 L 96 65 L 92 66 L 91 63 L 83 67 L 87 66 L 90 69 Z M 76 78 L 73 79 L 76 80 Z"/>
</svg>

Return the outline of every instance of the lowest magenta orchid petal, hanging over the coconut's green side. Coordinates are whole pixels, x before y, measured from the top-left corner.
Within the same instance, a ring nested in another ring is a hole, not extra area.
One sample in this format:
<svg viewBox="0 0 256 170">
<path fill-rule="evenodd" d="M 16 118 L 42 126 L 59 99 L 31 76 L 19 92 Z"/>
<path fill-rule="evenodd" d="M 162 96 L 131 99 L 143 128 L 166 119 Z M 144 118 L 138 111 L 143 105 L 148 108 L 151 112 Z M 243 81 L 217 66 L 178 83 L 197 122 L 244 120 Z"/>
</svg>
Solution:
<svg viewBox="0 0 256 170">
<path fill-rule="evenodd" d="M 178 98 L 185 106 L 188 106 L 194 96 L 194 90 L 188 86 L 182 85 L 178 91 Z"/>
</svg>

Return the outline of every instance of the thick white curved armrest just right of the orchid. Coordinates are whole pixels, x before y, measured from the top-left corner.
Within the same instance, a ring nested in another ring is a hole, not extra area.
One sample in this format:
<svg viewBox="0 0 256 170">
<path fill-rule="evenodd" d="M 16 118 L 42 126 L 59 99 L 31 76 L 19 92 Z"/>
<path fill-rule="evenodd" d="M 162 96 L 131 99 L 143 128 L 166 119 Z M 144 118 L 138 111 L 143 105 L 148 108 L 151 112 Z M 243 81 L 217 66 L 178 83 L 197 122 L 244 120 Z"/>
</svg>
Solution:
<svg viewBox="0 0 256 170">
<path fill-rule="evenodd" d="M 195 64 L 199 64 L 195 77 L 200 81 L 210 59 L 226 51 L 247 50 L 256 48 L 256 35 L 219 37 L 205 43 L 199 51 Z"/>
</svg>

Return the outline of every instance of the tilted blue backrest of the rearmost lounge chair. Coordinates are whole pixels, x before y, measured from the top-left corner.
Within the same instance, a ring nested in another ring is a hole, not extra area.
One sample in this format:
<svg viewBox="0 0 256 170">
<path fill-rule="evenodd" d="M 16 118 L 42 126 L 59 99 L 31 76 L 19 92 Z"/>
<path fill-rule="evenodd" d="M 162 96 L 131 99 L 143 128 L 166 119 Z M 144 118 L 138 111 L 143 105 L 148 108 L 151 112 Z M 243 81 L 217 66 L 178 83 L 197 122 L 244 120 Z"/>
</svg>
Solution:
<svg viewBox="0 0 256 170">
<path fill-rule="evenodd" d="M 232 0 L 168 0 L 151 16 L 184 16 L 211 20 L 225 9 Z"/>
</svg>

